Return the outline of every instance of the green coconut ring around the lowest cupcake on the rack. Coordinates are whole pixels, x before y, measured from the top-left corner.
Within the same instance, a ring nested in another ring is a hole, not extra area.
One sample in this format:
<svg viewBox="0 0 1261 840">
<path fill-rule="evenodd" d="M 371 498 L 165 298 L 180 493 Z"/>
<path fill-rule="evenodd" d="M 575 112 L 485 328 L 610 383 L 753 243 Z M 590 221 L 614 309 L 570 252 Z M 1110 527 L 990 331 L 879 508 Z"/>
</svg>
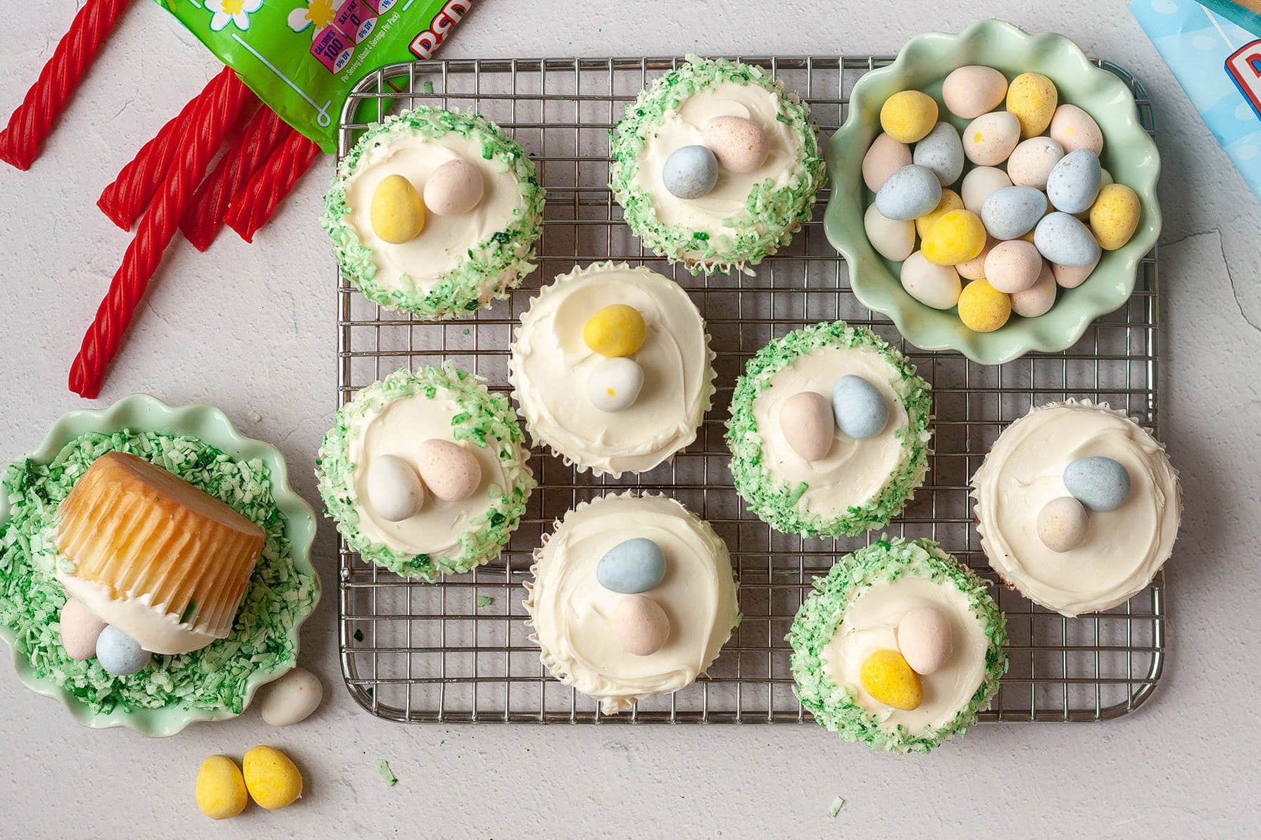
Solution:
<svg viewBox="0 0 1261 840">
<path fill-rule="evenodd" d="M 968 610 L 985 632 L 985 676 L 976 693 L 953 718 L 939 727 L 912 734 L 903 725 L 885 725 L 888 714 L 871 714 L 854 698 L 854 688 L 836 685 L 823 671 L 823 649 L 836 635 L 845 611 L 873 586 L 900 577 L 917 577 L 938 586 L 953 586 L 966 598 Z M 927 539 L 879 540 L 842 557 L 826 577 L 815 578 L 815 592 L 797 611 L 787 641 L 794 693 L 815 719 L 845 741 L 861 741 L 873 749 L 926 753 L 952 737 L 962 735 L 976 723 L 979 712 L 990 707 L 999 680 L 1008 670 L 1006 621 L 981 578 Z"/>
</svg>

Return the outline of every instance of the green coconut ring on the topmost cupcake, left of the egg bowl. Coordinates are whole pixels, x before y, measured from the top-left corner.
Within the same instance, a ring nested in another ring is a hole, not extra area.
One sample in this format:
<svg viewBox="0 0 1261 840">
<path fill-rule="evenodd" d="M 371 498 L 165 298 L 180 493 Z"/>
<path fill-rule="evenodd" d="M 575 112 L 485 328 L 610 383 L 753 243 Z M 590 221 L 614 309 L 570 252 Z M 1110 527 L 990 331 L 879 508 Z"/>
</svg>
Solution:
<svg viewBox="0 0 1261 840">
<path fill-rule="evenodd" d="M 697 55 L 689 55 L 687 62 L 641 91 L 627 106 L 625 117 L 610 132 L 609 186 L 627 224 L 653 252 L 671 262 L 682 262 L 692 275 L 744 270 L 788 244 L 793 233 L 810 220 L 815 194 L 826 178 L 816 130 L 810 122 L 810 107 L 762 68 Z M 796 165 L 778 189 L 770 179 L 754 185 L 743 210 L 723 219 L 724 232 L 719 236 L 667 225 L 658 219 L 652 196 L 634 184 L 639 155 L 667 115 L 677 112 L 690 96 L 728 82 L 757 84 L 776 94 L 776 120 L 792 127 L 802 140 L 794 151 Z"/>
</svg>

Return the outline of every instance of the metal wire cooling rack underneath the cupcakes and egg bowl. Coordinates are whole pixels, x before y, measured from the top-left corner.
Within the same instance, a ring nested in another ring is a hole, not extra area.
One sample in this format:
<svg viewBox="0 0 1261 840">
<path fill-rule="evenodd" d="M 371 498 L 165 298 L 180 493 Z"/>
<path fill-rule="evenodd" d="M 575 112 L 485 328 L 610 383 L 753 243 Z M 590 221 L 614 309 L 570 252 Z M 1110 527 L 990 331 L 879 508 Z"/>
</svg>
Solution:
<svg viewBox="0 0 1261 840">
<path fill-rule="evenodd" d="M 400 722 L 667 722 L 810 720 L 792 693 L 784 635 L 816 574 L 866 538 L 801 539 L 773 531 L 731 490 L 724 446 L 726 406 L 753 353 L 789 330 L 831 319 L 870 326 L 900 346 L 933 388 L 936 455 L 928 482 L 886 529 L 928 536 L 990 581 L 1008 616 L 1010 670 L 984 720 L 1101 720 L 1136 709 L 1160 678 L 1165 646 L 1164 579 L 1115 610 L 1064 618 L 994 583 L 980 552 L 967 499 L 968 477 L 999 432 L 1031 406 L 1087 397 L 1125 408 L 1158 431 L 1156 254 L 1141 263 L 1137 290 L 1100 319 L 1067 353 L 1033 354 L 1002 366 L 953 353 L 923 353 L 854 297 L 841 259 L 822 229 L 827 190 L 813 220 L 755 276 L 691 277 L 646 254 L 620 220 L 608 189 L 608 131 L 625 103 L 678 58 L 453 60 L 386 67 L 367 76 L 343 112 L 339 154 L 368 122 L 391 110 L 429 105 L 473 108 L 494 120 L 533 156 L 547 189 L 540 270 L 511 298 L 454 322 L 425 322 L 381 310 L 339 278 L 338 406 L 400 366 L 453 361 L 507 392 L 511 331 L 540 283 L 575 263 L 624 259 L 685 286 L 709 322 L 718 351 L 718 394 L 696 442 L 672 465 L 620 480 L 575 474 L 536 448 L 538 489 L 508 550 L 472 573 L 435 584 L 409 582 L 364 563 L 340 544 L 340 652 L 347 686 L 364 709 Z M 880 57 L 740 57 L 807 99 L 821 141 L 844 121 L 849 91 Z M 1097 64 L 1134 91 L 1144 126 L 1151 105 L 1126 71 Z M 356 121 L 358 120 L 358 122 Z M 707 519 L 731 549 L 744 618 L 709 676 L 627 714 L 601 715 L 595 701 L 554 680 L 528 639 L 522 583 L 531 552 L 565 511 L 627 487 L 673 495 Z"/>
</svg>

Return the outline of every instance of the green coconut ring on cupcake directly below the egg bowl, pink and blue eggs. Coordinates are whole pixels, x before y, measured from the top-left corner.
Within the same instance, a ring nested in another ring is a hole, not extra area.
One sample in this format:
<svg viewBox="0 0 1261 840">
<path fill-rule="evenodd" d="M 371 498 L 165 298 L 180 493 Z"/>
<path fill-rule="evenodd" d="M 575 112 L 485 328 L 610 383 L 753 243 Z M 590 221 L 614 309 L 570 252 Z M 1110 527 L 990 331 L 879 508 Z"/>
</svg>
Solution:
<svg viewBox="0 0 1261 840">
<path fill-rule="evenodd" d="M 806 506 L 805 482 L 789 484 L 770 474 L 762 451 L 758 421 L 753 416 L 754 400 L 770 387 L 774 374 L 791 366 L 801 356 L 823 348 L 864 350 L 884 359 L 894 372 L 889 385 L 902 399 L 907 412 L 907 424 L 895 432 L 902 457 L 884 486 L 861 505 L 851 505 L 847 510 L 827 516 Z M 929 390 L 928 383 L 902 353 L 863 326 L 831 321 L 794 330 L 772 341 L 749 360 L 731 397 L 726 445 L 731 450 L 731 479 L 736 492 L 748 502 L 749 510 L 786 534 L 852 536 L 873 528 L 884 528 L 914 497 L 915 489 L 923 484 L 928 472 L 928 443 L 932 438 L 928 429 L 932 421 Z"/>
</svg>

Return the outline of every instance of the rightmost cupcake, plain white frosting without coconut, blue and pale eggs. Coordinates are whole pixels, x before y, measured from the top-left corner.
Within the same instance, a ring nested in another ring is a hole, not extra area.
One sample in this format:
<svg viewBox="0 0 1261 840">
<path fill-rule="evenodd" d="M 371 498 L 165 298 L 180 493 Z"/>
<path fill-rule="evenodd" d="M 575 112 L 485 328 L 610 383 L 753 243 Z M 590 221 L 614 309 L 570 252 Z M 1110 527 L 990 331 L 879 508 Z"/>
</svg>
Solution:
<svg viewBox="0 0 1261 840">
<path fill-rule="evenodd" d="M 1182 519 L 1165 447 L 1107 403 L 1069 399 L 1008 426 L 972 476 L 976 526 L 1008 588 L 1064 616 L 1151 583 Z"/>
</svg>

